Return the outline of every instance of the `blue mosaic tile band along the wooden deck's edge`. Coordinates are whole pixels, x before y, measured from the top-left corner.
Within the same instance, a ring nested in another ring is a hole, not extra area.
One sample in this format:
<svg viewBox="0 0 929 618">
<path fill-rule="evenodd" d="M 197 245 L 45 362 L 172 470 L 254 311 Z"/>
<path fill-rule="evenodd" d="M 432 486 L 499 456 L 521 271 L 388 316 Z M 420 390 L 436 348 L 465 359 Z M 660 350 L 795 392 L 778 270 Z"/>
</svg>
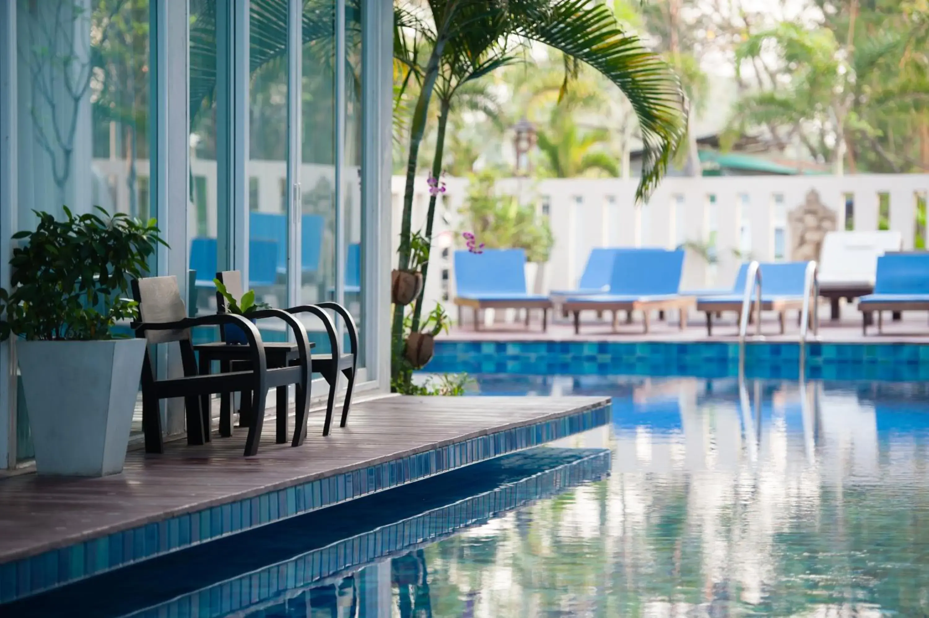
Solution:
<svg viewBox="0 0 929 618">
<path fill-rule="evenodd" d="M 2 564 L 0 602 L 26 597 L 137 560 L 149 559 L 226 534 L 424 479 L 454 467 L 601 427 L 609 423 L 609 414 L 609 406 L 605 405 L 530 426 L 512 427 L 424 453 L 410 454 L 379 465 L 299 483 L 224 505 L 210 506 Z M 339 560 L 335 555 L 333 559 Z M 351 560 L 345 558 L 342 561 L 348 563 Z M 267 586 L 261 585 L 260 589 L 265 590 Z"/>
</svg>

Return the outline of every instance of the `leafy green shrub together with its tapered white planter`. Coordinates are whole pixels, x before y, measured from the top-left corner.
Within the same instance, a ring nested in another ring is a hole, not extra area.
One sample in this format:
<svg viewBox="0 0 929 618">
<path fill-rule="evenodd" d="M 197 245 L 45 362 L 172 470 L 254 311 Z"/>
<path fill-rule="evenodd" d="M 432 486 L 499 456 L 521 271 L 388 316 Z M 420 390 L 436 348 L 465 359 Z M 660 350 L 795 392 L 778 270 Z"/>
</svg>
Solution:
<svg viewBox="0 0 929 618">
<path fill-rule="evenodd" d="M 0 289 L 0 340 L 18 337 L 38 472 L 103 476 L 123 469 L 146 345 L 113 326 L 137 319 L 124 296 L 164 241 L 154 219 L 64 211 L 36 213 L 34 231 L 13 235 L 27 243 Z"/>
</svg>

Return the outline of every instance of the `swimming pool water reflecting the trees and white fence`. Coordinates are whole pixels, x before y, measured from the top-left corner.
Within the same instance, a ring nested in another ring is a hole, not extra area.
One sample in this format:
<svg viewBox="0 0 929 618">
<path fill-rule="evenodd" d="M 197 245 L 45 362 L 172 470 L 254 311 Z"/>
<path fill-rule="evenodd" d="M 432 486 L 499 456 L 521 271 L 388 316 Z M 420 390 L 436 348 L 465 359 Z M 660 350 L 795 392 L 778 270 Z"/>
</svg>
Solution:
<svg viewBox="0 0 929 618">
<path fill-rule="evenodd" d="M 148 571 L 113 573 L 96 588 L 79 583 L 69 606 L 83 594 L 104 609 L 61 615 L 929 615 L 929 386 L 475 377 L 474 396 L 609 395 L 611 425 L 535 453 L 541 470 L 527 463 L 530 454 L 517 454 L 523 459 L 485 462 L 259 529 L 265 536 L 245 537 L 247 559 L 203 546 L 186 558 L 143 563 Z M 595 480 L 602 447 L 609 476 Z M 580 450 L 570 462 L 558 458 L 571 448 Z M 591 467 L 571 481 L 545 477 L 543 492 L 532 480 L 582 461 Z M 523 499 L 494 510 L 490 495 Z M 338 549 L 352 534 L 380 534 L 386 543 L 387 528 L 378 526 L 387 512 L 418 513 L 427 503 L 443 513 L 428 515 L 430 525 L 446 532 L 424 536 L 403 523 L 407 532 L 391 537 L 396 550 L 367 562 Z M 347 566 L 301 580 L 285 558 L 313 534 Z M 414 542 L 400 542 L 404 534 Z M 232 538 L 227 551 L 242 547 Z M 199 586 L 196 609 L 192 602 L 187 611 L 164 609 L 190 596 L 175 581 L 185 578 L 203 579 L 190 584 Z M 268 600 L 233 609 L 224 582 Z M 148 609 L 128 611 L 136 606 L 124 601 L 121 612 L 108 613 L 117 606 L 99 599 L 110 590 L 114 602 L 131 592 Z M 37 606 L 20 610 L 29 607 Z"/>
</svg>

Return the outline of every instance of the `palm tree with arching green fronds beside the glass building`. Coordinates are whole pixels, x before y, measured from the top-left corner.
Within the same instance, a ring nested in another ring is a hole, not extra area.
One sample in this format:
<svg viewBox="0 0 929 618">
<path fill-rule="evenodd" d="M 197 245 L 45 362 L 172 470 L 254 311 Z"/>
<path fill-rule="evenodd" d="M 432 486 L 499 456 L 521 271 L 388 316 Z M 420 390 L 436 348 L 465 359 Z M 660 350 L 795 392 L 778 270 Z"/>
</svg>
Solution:
<svg viewBox="0 0 929 618">
<path fill-rule="evenodd" d="M 404 0 L 396 11 L 395 52 L 418 79 L 419 95 L 410 123 L 406 185 L 401 217 L 399 268 L 409 267 L 412 238 L 412 198 L 420 145 L 434 92 L 449 100 L 457 85 L 516 60 L 513 44 L 541 43 L 561 52 L 570 77 L 581 63 L 604 74 L 629 99 L 643 141 L 643 169 L 637 197 L 652 191 L 685 133 L 683 97 L 674 72 L 638 38 L 622 30 L 612 11 L 586 0 L 429 0 L 424 7 Z M 425 63 L 414 63 L 404 41 L 425 39 L 431 46 Z M 473 75 L 473 76 L 469 76 Z M 446 86 L 443 90 L 443 84 Z M 441 123 L 441 112 L 439 112 Z M 434 176 L 441 172 L 441 146 L 446 125 L 440 125 Z M 426 239 L 431 240 L 428 220 Z M 418 306 L 418 305 L 417 305 Z M 403 308 L 396 306 L 392 328 L 394 350 L 402 348 Z M 399 354 L 395 357 L 399 358 Z M 394 367 L 397 376 L 400 367 Z"/>
</svg>

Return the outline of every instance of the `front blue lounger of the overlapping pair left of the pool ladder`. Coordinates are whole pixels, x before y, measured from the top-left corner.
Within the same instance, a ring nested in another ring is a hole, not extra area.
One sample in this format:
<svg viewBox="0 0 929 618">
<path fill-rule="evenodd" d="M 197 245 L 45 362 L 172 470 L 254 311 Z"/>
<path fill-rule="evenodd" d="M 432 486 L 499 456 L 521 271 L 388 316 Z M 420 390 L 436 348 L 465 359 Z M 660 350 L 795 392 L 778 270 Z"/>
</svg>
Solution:
<svg viewBox="0 0 929 618">
<path fill-rule="evenodd" d="M 681 315 L 680 328 L 683 330 L 687 324 L 687 309 L 693 306 L 692 297 L 677 293 L 683 268 L 683 251 L 616 251 L 613 255 L 609 293 L 569 296 L 561 307 L 574 314 L 575 334 L 581 332 L 581 311 L 585 310 L 612 311 L 614 329 L 617 311 L 641 310 L 645 318 L 645 332 L 648 333 L 651 311 L 678 309 Z"/>
</svg>

